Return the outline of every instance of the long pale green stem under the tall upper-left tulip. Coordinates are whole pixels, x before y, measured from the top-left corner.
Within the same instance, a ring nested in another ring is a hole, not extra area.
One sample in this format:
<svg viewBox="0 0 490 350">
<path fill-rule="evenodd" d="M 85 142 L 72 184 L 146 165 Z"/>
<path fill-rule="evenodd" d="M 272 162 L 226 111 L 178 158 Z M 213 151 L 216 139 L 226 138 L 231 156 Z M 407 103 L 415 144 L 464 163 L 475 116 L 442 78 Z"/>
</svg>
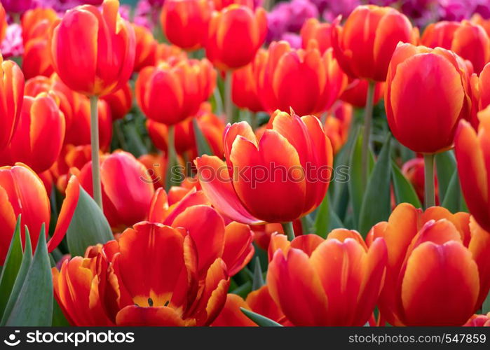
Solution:
<svg viewBox="0 0 490 350">
<path fill-rule="evenodd" d="M 92 185 L 93 198 L 102 209 L 102 186 L 100 184 L 100 162 L 99 162 L 99 111 L 97 103 L 98 96 L 90 96 L 90 148 L 92 152 Z"/>
</svg>

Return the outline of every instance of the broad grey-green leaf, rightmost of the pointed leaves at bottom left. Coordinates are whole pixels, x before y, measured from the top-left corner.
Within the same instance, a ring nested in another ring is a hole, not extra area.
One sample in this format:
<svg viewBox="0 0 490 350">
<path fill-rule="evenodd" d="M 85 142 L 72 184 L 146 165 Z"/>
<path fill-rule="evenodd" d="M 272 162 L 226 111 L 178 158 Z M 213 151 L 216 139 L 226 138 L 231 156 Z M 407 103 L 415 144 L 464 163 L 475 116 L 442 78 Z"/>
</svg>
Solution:
<svg viewBox="0 0 490 350">
<path fill-rule="evenodd" d="M 19 297 L 6 325 L 49 326 L 53 319 L 53 277 L 44 235 L 44 224 L 39 241 Z"/>
</svg>

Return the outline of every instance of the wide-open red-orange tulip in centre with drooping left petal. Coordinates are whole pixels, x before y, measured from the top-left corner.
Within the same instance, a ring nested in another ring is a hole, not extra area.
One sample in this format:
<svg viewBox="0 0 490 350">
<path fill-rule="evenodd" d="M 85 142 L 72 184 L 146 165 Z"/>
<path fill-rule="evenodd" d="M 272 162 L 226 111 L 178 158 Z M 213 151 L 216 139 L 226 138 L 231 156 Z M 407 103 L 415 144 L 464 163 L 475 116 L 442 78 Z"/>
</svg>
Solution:
<svg viewBox="0 0 490 350">
<path fill-rule="evenodd" d="M 315 116 L 276 111 L 260 140 L 246 122 L 224 131 L 226 162 L 203 155 L 198 179 L 213 206 L 240 223 L 284 223 L 313 211 L 328 188 L 332 146 Z"/>
</svg>

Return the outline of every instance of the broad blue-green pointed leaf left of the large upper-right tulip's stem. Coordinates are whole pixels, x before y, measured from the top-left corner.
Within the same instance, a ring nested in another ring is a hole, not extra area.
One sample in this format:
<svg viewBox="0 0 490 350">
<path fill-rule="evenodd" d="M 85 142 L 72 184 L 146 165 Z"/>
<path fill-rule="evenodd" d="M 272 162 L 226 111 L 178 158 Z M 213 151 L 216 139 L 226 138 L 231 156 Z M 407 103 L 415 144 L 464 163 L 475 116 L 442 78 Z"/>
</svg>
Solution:
<svg viewBox="0 0 490 350">
<path fill-rule="evenodd" d="M 367 189 L 362 198 L 359 217 L 359 231 L 365 236 L 373 225 L 388 220 L 391 212 L 390 196 L 390 137 L 385 141 L 378 161 L 369 177 Z"/>
</svg>

